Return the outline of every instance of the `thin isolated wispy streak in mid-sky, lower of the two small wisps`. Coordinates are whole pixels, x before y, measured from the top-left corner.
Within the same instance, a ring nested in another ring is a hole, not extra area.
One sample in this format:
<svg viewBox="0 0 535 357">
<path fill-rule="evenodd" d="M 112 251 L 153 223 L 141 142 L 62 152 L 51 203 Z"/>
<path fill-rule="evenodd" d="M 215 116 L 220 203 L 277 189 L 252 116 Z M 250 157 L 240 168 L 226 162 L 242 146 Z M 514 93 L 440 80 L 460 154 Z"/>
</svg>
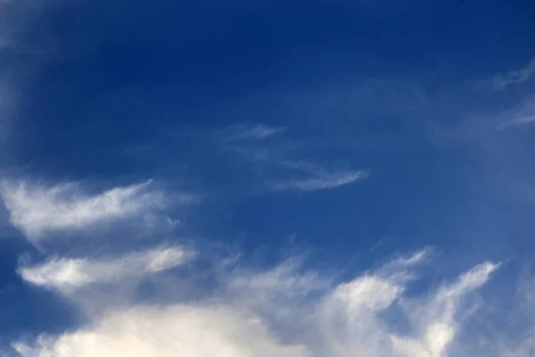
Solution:
<svg viewBox="0 0 535 357">
<path fill-rule="evenodd" d="M 318 174 L 315 177 L 307 179 L 295 179 L 276 183 L 272 185 L 272 188 L 275 190 L 317 191 L 349 185 L 359 179 L 366 179 L 368 176 L 369 173 L 363 170 L 334 172 Z"/>
</svg>

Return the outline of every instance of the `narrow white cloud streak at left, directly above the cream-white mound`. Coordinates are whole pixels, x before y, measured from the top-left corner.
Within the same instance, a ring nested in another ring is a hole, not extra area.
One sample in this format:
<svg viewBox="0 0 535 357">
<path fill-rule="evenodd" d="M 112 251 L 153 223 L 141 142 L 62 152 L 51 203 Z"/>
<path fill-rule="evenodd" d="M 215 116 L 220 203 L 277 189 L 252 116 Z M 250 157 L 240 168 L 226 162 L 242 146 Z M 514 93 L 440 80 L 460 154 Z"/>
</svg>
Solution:
<svg viewBox="0 0 535 357">
<path fill-rule="evenodd" d="M 121 279 L 144 277 L 168 270 L 184 263 L 191 255 L 181 248 L 167 247 L 100 261 L 55 259 L 37 267 L 21 268 L 19 272 L 31 284 L 68 294 L 94 283 L 118 283 Z"/>
</svg>

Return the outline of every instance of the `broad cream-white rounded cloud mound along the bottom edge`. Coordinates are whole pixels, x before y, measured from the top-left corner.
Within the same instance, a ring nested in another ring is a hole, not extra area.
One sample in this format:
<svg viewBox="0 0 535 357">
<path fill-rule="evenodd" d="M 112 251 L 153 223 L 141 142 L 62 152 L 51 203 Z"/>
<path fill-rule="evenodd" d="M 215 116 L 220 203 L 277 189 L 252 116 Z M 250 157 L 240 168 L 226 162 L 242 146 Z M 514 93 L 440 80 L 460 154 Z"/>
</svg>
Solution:
<svg viewBox="0 0 535 357">
<path fill-rule="evenodd" d="M 282 345 L 252 316 L 225 306 L 177 305 L 117 311 L 94 328 L 37 348 L 15 345 L 24 357 L 305 357 L 301 345 Z"/>
</svg>

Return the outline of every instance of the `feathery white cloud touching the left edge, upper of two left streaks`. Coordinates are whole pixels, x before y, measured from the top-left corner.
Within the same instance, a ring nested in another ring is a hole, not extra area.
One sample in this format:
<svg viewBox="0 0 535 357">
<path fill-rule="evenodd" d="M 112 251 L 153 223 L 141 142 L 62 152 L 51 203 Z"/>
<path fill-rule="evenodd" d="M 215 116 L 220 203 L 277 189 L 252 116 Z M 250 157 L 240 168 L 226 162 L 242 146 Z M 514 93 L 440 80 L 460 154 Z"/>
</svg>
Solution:
<svg viewBox="0 0 535 357">
<path fill-rule="evenodd" d="M 124 219 L 161 208 L 164 197 L 150 186 L 151 181 L 147 181 L 87 195 L 76 183 L 42 187 L 4 182 L 0 194 L 12 224 L 27 237 L 37 238 L 48 231 L 86 228 L 99 221 Z"/>
</svg>

